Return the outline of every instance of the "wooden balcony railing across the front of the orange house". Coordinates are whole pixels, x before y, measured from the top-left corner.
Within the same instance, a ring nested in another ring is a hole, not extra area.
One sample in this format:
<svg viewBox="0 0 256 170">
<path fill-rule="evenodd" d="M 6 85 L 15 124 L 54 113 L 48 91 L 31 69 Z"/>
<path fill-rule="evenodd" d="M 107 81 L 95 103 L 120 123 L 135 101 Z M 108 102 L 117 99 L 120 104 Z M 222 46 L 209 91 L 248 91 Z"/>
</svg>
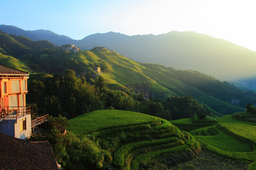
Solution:
<svg viewBox="0 0 256 170">
<path fill-rule="evenodd" d="M 28 107 L 1 107 L 0 108 L 0 119 L 6 118 L 18 118 L 30 114 L 30 106 Z"/>
</svg>

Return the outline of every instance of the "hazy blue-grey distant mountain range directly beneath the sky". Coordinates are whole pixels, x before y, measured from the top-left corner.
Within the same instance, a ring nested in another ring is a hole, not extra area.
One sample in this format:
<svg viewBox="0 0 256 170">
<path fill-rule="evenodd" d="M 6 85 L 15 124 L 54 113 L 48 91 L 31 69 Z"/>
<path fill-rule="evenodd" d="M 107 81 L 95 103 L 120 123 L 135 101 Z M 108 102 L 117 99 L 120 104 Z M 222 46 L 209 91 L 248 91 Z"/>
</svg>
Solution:
<svg viewBox="0 0 256 170">
<path fill-rule="evenodd" d="M 222 80 L 256 76 L 256 51 L 191 31 L 133 36 L 109 32 L 73 40 L 49 30 L 25 31 L 6 25 L 0 25 L 0 30 L 34 41 L 48 40 L 56 45 L 75 44 L 82 50 L 105 46 L 138 62 L 198 70 Z"/>
</svg>

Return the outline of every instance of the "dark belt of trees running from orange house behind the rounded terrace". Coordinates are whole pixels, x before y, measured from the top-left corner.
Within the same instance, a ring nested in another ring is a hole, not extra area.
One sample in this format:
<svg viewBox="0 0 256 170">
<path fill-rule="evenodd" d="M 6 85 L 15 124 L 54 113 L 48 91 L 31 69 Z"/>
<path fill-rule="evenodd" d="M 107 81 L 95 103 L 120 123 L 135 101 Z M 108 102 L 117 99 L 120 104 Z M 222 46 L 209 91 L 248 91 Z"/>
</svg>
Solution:
<svg viewBox="0 0 256 170">
<path fill-rule="evenodd" d="M 94 79 L 76 77 L 70 69 L 64 76 L 32 76 L 28 88 L 27 102 L 36 104 L 40 113 L 55 117 L 61 114 L 73 118 L 92 110 L 118 109 L 171 120 L 190 118 L 207 110 L 191 96 L 173 96 L 165 102 L 152 97 L 146 100 L 143 93 L 132 95 L 110 90 L 102 76 L 94 76 Z"/>
</svg>

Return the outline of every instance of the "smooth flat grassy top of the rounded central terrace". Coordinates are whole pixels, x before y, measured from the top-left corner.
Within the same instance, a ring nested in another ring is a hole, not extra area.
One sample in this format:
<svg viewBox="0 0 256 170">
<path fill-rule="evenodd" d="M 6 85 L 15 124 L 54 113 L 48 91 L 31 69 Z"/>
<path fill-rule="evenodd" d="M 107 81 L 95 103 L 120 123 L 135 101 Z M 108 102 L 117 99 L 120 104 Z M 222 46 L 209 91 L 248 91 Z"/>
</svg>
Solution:
<svg viewBox="0 0 256 170">
<path fill-rule="evenodd" d="M 108 128 L 142 125 L 156 121 L 156 117 L 132 111 L 96 110 L 70 119 L 68 130 L 83 135 Z"/>
</svg>

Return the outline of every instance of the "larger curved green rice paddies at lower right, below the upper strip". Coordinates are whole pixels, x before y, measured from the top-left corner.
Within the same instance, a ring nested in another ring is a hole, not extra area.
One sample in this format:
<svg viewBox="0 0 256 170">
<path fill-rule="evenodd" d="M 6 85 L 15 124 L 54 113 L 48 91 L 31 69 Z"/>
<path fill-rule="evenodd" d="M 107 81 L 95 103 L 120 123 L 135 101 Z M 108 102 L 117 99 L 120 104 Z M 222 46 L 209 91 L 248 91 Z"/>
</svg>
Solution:
<svg viewBox="0 0 256 170">
<path fill-rule="evenodd" d="M 222 123 L 190 132 L 204 147 L 229 159 L 253 162 L 248 170 L 256 170 L 256 126 Z"/>
</svg>

